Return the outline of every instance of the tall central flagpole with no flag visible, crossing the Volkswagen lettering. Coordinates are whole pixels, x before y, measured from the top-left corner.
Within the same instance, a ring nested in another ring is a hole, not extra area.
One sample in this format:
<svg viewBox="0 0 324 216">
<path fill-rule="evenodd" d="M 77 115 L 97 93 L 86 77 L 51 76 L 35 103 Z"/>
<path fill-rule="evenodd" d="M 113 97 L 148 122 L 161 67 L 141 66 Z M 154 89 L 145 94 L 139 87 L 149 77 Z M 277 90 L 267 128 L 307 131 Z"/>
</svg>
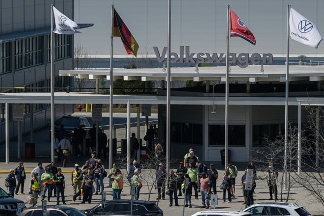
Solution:
<svg viewBox="0 0 324 216">
<path fill-rule="evenodd" d="M 170 111 L 171 111 L 171 0 L 168 0 L 167 21 L 167 79 L 166 79 L 166 170 L 170 169 Z"/>
</svg>

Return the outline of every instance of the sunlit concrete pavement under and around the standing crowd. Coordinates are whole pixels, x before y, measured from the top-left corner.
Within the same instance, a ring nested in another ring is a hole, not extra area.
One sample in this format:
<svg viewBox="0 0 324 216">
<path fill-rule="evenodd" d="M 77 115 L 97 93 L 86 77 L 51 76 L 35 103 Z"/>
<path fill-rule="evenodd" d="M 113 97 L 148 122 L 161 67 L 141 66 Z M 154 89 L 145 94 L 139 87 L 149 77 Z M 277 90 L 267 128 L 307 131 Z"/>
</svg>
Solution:
<svg viewBox="0 0 324 216">
<path fill-rule="evenodd" d="M 83 164 L 83 163 L 81 163 Z M 80 165 L 81 165 L 80 164 Z M 8 170 L 10 168 L 15 168 L 17 167 L 17 163 L 9 163 L 9 164 L 5 164 L 5 163 L 0 163 L 0 168 L 1 170 Z M 26 194 L 18 194 L 15 195 L 15 198 L 21 199 L 23 201 L 26 200 L 27 198 L 27 192 L 28 192 L 28 187 L 29 187 L 29 182 L 30 182 L 30 172 L 28 172 L 29 170 L 31 171 L 31 169 L 33 169 L 35 166 L 37 166 L 37 164 L 35 162 L 26 162 L 25 164 L 25 169 L 27 172 L 27 179 L 25 181 L 25 190 L 24 192 Z M 45 167 L 46 165 L 48 165 L 48 163 L 43 163 L 43 166 Z M 106 166 L 108 168 L 108 166 Z M 73 189 L 71 186 L 71 171 L 74 167 L 67 167 L 67 168 L 63 168 L 64 170 L 64 175 L 66 178 L 66 190 L 65 190 L 65 197 L 66 197 L 66 202 L 68 206 L 74 207 L 74 208 L 78 208 L 80 210 L 84 210 L 84 209 L 89 209 L 94 207 L 95 205 L 99 204 L 101 202 L 101 196 L 100 195 L 93 195 L 93 201 L 92 203 L 89 204 L 80 204 L 81 201 L 77 200 L 76 202 L 73 202 L 72 200 L 72 195 L 73 195 Z M 219 175 L 222 175 L 222 169 L 217 169 Z M 122 170 L 123 173 L 125 173 L 126 170 Z M 154 175 L 154 171 L 153 175 Z M 0 187 L 2 189 L 5 189 L 4 187 L 4 178 L 7 176 L 8 174 L 0 174 Z M 239 171 L 238 177 L 237 177 L 237 181 L 236 181 L 236 192 L 235 192 L 235 198 L 232 198 L 232 202 L 222 202 L 222 191 L 219 190 L 219 184 L 220 184 L 220 178 L 218 178 L 217 181 L 217 194 L 218 194 L 218 206 L 216 207 L 216 209 L 225 209 L 225 210 L 229 210 L 229 209 L 236 209 L 236 210 L 243 210 L 245 205 L 243 205 L 243 194 L 242 194 L 242 189 L 241 189 L 241 176 L 243 175 L 243 171 Z M 258 172 L 258 175 L 262 175 L 262 173 Z M 111 193 L 111 188 L 106 188 L 106 186 L 108 185 L 108 179 L 105 178 L 104 179 L 104 184 L 105 184 L 105 188 L 104 191 L 107 192 L 107 199 L 110 200 L 112 199 L 112 193 Z M 140 196 L 139 199 L 140 200 L 148 200 L 149 199 L 149 187 L 151 187 L 152 185 L 147 185 L 147 184 L 143 184 L 143 188 L 140 190 Z M 267 185 L 267 181 L 266 180 L 257 180 L 257 188 L 256 188 L 256 194 L 254 194 L 254 198 L 256 199 L 255 203 L 258 202 L 265 202 L 268 201 L 269 199 L 269 189 L 268 189 L 268 185 Z M 278 185 L 278 198 L 280 198 L 280 191 L 281 188 Z M 20 192 L 20 191 L 19 191 Z M 122 191 L 122 199 L 130 199 L 130 187 L 125 183 L 124 184 L 124 189 Z M 193 192 L 194 194 L 194 192 Z M 192 202 L 192 208 L 185 208 L 185 216 L 190 216 L 196 212 L 205 210 L 205 209 L 200 209 L 201 206 L 201 195 L 199 194 L 199 200 L 194 199 L 194 196 L 191 197 L 191 202 Z M 286 191 L 283 192 L 283 196 L 285 197 Z M 153 189 L 152 193 L 150 195 L 150 201 L 154 201 L 156 202 L 157 198 L 157 190 Z M 165 200 L 159 200 L 159 206 L 160 208 L 163 210 L 163 215 L 165 216 L 180 216 L 182 215 L 182 210 L 183 210 L 183 204 L 184 204 L 184 196 L 180 196 L 179 197 L 179 204 L 181 205 L 180 207 L 169 207 L 169 201 L 168 201 L 168 196 L 165 195 Z M 52 197 L 51 198 L 51 202 L 48 203 L 48 205 L 54 205 L 55 204 L 55 200 L 56 198 Z M 289 198 L 290 203 L 297 203 L 299 205 L 302 205 L 306 208 L 307 211 L 309 211 L 311 214 L 313 215 L 319 215 L 319 216 L 323 216 L 323 209 L 320 209 L 322 207 L 322 205 L 316 201 L 314 199 L 314 197 L 310 196 L 307 191 L 305 191 L 303 188 L 301 187 L 293 187 L 291 189 L 291 197 Z M 38 205 L 40 205 L 40 198 L 38 199 Z M 174 202 L 173 202 L 174 204 Z M 28 205 L 27 205 L 28 206 Z"/>
</svg>

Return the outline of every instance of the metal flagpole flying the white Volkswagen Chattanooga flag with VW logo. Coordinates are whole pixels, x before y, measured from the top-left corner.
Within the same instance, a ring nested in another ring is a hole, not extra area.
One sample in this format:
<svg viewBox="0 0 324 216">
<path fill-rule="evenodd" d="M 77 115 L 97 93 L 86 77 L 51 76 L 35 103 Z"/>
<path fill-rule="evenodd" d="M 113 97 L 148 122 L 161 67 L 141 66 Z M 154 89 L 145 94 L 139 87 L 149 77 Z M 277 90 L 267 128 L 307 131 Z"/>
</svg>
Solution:
<svg viewBox="0 0 324 216">
<path fill-rule="evenodd" d="M 286 56 L 286 97 L 285 97 L 285 158 L 284 158 L 284 188 L 287 189 L 287 145 L 288 145 L 288 99 L 289 99 L 289 18 L 290 4 L 287 8 L 287 56 Z"/>
</svg>

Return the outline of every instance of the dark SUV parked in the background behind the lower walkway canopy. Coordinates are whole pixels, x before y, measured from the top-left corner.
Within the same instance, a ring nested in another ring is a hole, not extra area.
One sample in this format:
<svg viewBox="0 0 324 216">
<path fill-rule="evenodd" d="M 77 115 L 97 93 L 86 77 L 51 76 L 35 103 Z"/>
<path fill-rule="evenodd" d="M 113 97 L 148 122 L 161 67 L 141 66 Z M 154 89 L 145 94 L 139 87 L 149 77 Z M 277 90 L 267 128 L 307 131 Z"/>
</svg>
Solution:
<svg viewBox="0 0 324 216">
<path fill-rule="evenodd" d="M 58 134 L 60 126 L 63 125 L 64 130 L 67 134 L 72 134 L 75 128 L 78 128 L 79 125 L 82 127 L 90 127 L 89 121 L 85 117 L 75 117 L 75 116 L 63 116 L 62 118 L 54 122 L 54 133 Z M 50 131 L 50 140 L 51 140 L 51 131 Z"/>
</svg>

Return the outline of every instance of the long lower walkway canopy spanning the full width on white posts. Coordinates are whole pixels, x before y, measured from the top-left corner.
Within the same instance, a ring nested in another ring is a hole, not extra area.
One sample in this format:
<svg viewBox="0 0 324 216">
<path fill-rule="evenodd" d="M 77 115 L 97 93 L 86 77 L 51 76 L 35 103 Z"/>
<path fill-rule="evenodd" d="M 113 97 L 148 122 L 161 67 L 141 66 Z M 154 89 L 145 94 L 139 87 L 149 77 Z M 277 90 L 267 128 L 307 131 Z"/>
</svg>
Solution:
<svg viewBox="0 0 324 216">
<path fill-rule="evenodd" d="M 79 92 L 55 92 L 55 104 L 109 104 L 109 95 Z M 114 104 L 166 104 L 165 96 L 158 95 L 114 95 Z M 0 93 L 0 103 L 9 104 L 50 104 L 51 94 L 47 92 Z M 290 97 L 289 105 L 324 106 L 324 97 Z M 174 105 L 213 105 L 213 97 L 172 96 Z M 224 97 L 214 97 L 215 105 L 224 105 Z M 229 105 L 284 106 L 284 97 L 230 97 Z"/>
</svg>

